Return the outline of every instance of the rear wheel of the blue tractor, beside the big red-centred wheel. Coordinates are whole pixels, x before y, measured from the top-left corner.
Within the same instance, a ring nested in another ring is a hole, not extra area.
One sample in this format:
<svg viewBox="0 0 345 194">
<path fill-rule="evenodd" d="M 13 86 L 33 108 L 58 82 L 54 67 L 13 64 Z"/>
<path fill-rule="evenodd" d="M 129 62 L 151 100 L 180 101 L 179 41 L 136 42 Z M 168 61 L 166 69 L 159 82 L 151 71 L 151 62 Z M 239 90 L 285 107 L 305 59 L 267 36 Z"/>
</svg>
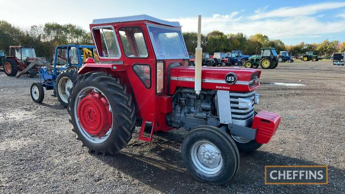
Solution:
<svg viewBox="0 0 345 194">
<path fill-rule="evenodd" d="M 56 96 L 65 108 L 69 106 L 69 94 L 73 87 L 73 82 L 78 78 L 78 74 L 70 69 L 61 72 L 55 82 Z"/>
</svg>

